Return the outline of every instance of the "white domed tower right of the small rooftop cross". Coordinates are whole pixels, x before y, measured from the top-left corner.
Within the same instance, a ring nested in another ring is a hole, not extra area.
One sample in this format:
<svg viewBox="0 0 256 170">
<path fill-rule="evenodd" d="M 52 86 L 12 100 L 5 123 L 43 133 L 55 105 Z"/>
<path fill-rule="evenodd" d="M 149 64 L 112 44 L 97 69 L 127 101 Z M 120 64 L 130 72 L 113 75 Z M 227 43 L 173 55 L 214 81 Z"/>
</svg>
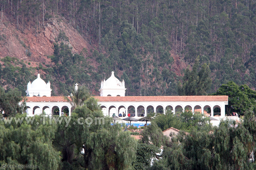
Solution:
<svg viewBox="0 0 256 170">
<path fill-rule="evenodd" d="M 101 81 L 101 88 L 100 88 L 100 96 L 125 96 L 125 86 L 124 86 L 124 79 L 123 81 L 119 81 L 115 77 L 114 71 L 110 78 L 106 81 L 105 79 Z"/>
</svg>

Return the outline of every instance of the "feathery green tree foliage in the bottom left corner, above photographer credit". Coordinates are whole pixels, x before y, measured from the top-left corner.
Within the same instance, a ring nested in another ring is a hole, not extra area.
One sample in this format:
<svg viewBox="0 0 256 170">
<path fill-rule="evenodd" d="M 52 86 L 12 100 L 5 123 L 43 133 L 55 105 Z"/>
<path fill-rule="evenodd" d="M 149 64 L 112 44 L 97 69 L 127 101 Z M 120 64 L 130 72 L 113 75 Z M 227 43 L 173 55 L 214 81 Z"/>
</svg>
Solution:
<svg viewBox="0 0 256 170">
<path fill-rule="evenodd" d="M 24 118 L 25 115 L 16 115 Z M 35 116 L 33 125 L 26 121 L 11 125 L 0 121 L 0 164 L 2 165 L 37 165 L 35 169 L 55 170 L 59 167 L 59 152 L 53 148 L 52 140 L 56 127 L 43 125 L 43 119 Z"/>
</svg>

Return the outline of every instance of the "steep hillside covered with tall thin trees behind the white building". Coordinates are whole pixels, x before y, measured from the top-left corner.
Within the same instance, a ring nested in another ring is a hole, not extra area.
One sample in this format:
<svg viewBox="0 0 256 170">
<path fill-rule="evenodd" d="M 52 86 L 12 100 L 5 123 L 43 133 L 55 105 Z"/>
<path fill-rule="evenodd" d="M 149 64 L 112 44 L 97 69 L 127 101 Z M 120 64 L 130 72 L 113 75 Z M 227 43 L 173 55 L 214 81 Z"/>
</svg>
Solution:
<svg viewBox="0 0 256 170">
<path fill-rule="evenodd" d="M 64 95 L 75 82 L 98 95 L 99 83 L 114 70 L 124 79 L 128 96 L 177 95 L 186 66 L 191 69 L 198 56 L 200 65 L 206 63 L 211 70 L 208 92 L 229 80 L 256 87 L 253 0 L 2 0 L 0 6 L 0 24 L 23 38 L 64 23 L 44 55 L 38 57 L 21 40 L 25 57 L 1 53 L 1 85 L 16 84 L 23 93 L 28 80 L 40 72 L 55 95 Z M 85 48 L 74 45 L 70 29 L 88 42 Z M 7 39 L 0 31 L 0 50 L 9 47 Z M 29 65 L 35 56 L 38 65 Z"/>
</svg>

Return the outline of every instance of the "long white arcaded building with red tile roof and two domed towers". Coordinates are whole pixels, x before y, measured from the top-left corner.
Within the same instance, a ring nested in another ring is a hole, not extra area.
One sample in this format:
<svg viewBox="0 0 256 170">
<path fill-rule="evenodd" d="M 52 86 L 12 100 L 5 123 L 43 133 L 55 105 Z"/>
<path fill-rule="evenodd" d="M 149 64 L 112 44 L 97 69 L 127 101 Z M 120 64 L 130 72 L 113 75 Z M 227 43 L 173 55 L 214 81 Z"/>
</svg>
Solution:
<svg viewBox="0 0 256 170">
<path fill-rule="evenodd" d="M 77 89 L 76 84 L 76 89 Z M 101 81 L 100 96 L 95 96 L 105 116 L 128 116 L 141 118 L 148 113 L 163 113 L 171 110 L 174 114 L 184 110 L 192 113 L 204 114 L 211 120 L 220 120 L 225 117 L 225 105 L 228 104 L 228 96 L 125 96 L 124 80 L 121 82 L 114 75 L 105 81 Z M 28 83 L 27 88 L 27 114 L 33 116 L 43 111 L 48 115 L 54 115 L 54 109 L 61 112 L 65 110 L 69 116 L 72 105 L 63 96 L 51 96 L 50 82 L 47 84 L 40 78 Z M 32 97 L 33 96 L 33 97 Z M 213 118 L 214 117 L 214 118 Z"/>
</svg>

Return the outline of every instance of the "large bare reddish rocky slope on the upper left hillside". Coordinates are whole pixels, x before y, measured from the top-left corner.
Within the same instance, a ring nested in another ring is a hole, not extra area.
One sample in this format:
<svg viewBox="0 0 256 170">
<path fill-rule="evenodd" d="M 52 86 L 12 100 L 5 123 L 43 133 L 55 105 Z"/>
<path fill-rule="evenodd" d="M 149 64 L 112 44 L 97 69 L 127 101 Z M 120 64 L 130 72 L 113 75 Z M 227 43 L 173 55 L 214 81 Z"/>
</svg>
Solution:
<svg viewBox="0 0 256 170">
<path fill-rule="evenodd" d="M 27 26 L 21 30 L 11 23 L 6 16 L 0 23 L 0 57 L 16 57 L 28 62 L 49 63 L 47 58 L 53 54 L 53 43 L 60 31 L 66 33 L 73 53 L 80 53 L 83 48 L 91 49 L 91 45 L 74 28 L 62 22 L 63 17 L 54 17 L 40 25 L 38 33 Z M 88 50 L 89 51 L 89 50 Z M 33 65 L 32 65 L 33 66 Z"/>
</svg>

